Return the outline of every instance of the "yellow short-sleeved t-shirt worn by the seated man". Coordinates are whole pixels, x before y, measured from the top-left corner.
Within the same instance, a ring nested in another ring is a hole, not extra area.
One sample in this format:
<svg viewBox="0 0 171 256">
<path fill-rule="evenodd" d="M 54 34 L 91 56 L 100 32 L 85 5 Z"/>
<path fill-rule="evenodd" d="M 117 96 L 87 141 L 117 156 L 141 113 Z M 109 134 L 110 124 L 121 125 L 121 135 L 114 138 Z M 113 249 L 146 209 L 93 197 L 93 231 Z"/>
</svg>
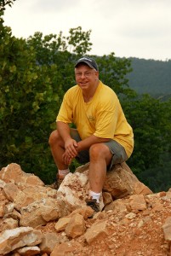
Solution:
<svg viewBox="0 0 171 256">
<path fill-rule="evenodd" d="M 134 135 L 116 93 L 100 82 L 91 101 L 84 102 L 78 85 L 66 91 L 57 121 L 73 123 L 82 139 L 94 134 L 120 143 L 128 155 L 134 148 Z"/>
</svg>

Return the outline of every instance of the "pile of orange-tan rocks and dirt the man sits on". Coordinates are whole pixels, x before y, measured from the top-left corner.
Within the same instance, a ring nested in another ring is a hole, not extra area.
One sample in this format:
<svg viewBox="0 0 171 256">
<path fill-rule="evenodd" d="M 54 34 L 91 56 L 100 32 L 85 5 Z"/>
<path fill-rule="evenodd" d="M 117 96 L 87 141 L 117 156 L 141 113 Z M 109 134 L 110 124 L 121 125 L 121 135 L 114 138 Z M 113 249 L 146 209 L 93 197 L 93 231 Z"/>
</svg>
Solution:
<svg viewBox="0 0 171 256">
<path fill-rule="evenodd" d="M 58 191 L 17 164 L 4 167 L 0 255 L 171 255 L 171 191 L 153 194 L 123 163 L 107 173 L 94 218 L 87 195 L 88 164 Z"/>
</svg>

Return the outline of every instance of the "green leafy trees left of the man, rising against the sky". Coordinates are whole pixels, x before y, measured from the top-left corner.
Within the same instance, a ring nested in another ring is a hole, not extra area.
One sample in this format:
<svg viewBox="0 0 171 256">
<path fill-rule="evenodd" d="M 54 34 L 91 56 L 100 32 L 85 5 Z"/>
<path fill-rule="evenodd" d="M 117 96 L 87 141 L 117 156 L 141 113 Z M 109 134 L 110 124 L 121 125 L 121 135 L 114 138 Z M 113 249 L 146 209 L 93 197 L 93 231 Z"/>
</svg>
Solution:
<svg viewBox="0 0 171 256">
<path fill-rule="evenodd" d="M 14 38 L 11 29 L 3 26 L 2 16 L 0 24 L 0 167 L 17 162 L 49 182 L 56 166 L 48 137 L 55 129 L 64 92 L 75 84 L 73 63 L 91 45 L 85 39 L 78 47 L 73 37 L 77 29 L 80 38 L 89 32 L 78 27 L 68 38 L 62 32 L 45 37 L 36 32 L 26 40 Z M 71 46 L 77 55 L 67 50 Z"/>
</svg>

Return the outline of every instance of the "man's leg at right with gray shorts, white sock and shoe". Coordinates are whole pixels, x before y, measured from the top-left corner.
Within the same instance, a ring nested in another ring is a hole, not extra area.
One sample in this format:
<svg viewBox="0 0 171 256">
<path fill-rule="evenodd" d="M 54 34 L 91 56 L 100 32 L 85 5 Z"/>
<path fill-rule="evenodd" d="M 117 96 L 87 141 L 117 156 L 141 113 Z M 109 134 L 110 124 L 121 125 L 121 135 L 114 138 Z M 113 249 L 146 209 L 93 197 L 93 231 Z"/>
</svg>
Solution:
<svg viewBox="0 0 171 256">
<path fill-rule="evenodd" d="M 92 145 L 89 150 L 89 195 L 91 200 L 87 204 L 94 209 L 95 212 L 100 210 L 98 205 L 100 195 L 105 182 L 107 167 L 112 168 L 117 163 L 128 160 L 128 156 L 123 146 L 116 141 L 107 143 L 97 143 Z"/>
</svg>

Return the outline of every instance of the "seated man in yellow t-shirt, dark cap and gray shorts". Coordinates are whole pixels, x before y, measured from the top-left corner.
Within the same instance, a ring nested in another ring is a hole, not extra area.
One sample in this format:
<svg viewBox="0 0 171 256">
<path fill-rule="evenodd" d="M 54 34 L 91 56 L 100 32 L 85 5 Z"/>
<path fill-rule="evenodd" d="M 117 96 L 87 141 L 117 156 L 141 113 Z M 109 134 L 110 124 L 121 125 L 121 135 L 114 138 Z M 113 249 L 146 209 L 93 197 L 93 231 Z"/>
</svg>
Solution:
<svg viewBox="0 0 171 256">
<path fill-rule="evenodd" d="M 71 160 L 89 161 L 90 185 L 87 204 L 99 211 L 99 201 L 107 170 L 128 160 L 134 135 L 117 95 L 99 80 L 97 63 L 89 57 L 75 65 L 77 85 L 66 91 L 57 116 L 57 130 L 49 144 L 58 167 L 59 179 L 70 172 Z M 75 124 L 71 129 L 69 124 Z"/>
</svg>

